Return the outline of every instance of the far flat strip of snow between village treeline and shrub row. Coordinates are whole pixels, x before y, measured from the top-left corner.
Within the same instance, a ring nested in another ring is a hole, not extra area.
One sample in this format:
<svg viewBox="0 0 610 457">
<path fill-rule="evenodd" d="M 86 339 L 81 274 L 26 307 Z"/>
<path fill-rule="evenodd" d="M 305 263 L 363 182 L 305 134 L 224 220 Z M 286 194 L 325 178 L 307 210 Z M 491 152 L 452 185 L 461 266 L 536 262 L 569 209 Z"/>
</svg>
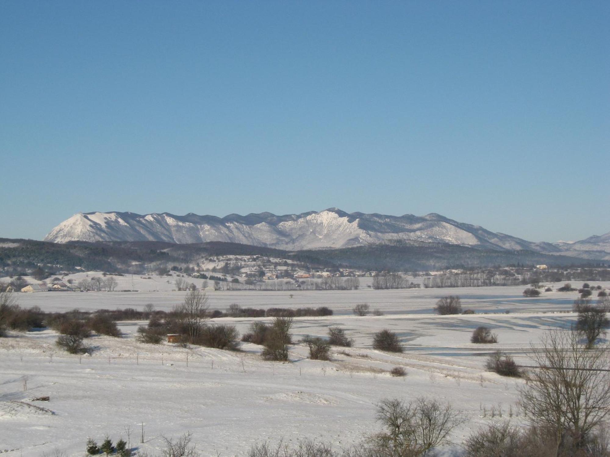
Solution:
<svg viewBox="0 0 610 457">
<path fill-rule="evenodd" d="M 152 303 L 159 310 L 170 310 L 173 305 L 182 302 L 187 293 L 172 291 L 172 285 L 162 281 L 152 284 L 151 289 L 145 289 L 145 285 L 152 280 L 137 279 L 139 282 L 135 287 L 139 292 L 38 292 L 20 293 L 19 298 L 21 305 L 40 306 L 44 311 L 68 311 L 74 308 L 113 310 L 128 306 L 142 309 L 146 303 Z M 131 285 L 131 278 L 117 277 L 117 280 L 129 281 Z M 166 287 L 160 287 L 163 285 Z M 609 282 L 601 282 L 600 285 L 610 288 Z M 556 290 L 562 284 L 551 286 Z M 580 286 L 579 283 L 578 287 Z M 573 301 L 578 297 L 576 292 L 542 292 L 539 298 L 531 299 L 523 297 L 525 288 L 526 286 L 498 286 L 374 290 L 364 286 L 354 291 L 212 291 L 207 292 L 207 296 L 210 307 L 218 310 L 226 310 L 231 303 L 251 308 L 328 306 L 335 314 L 351 314 L 356 303 L 368 303 L 371 310 L 378 308 L 383 313 L 432 313 L 437 300 L 447 295 L 458 295 L 464 310 L 470 308 L 477 312 L 567 311 L 572 309 Z M 119 283 L 117 290 L 121 289 L 124 288 Z"/>
</svg>

